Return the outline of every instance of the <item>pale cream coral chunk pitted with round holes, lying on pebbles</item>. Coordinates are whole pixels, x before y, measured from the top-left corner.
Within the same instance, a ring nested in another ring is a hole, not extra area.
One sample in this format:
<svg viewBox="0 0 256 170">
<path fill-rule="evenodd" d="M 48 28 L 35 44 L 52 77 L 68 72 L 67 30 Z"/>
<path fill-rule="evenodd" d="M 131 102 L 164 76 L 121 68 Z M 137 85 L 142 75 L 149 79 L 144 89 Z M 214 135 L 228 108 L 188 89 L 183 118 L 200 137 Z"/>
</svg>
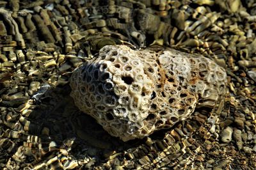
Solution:
<svg viewBox="0 0 256 170">
<path fill-rule="evenodd" d="M 225 81 L 225 70 L 200 55 L 108 45 L 74 71 L 70 86 L 81 111 L 128 141 L 172 127 L 202 103 L 213 106 Z"/>
</svg>

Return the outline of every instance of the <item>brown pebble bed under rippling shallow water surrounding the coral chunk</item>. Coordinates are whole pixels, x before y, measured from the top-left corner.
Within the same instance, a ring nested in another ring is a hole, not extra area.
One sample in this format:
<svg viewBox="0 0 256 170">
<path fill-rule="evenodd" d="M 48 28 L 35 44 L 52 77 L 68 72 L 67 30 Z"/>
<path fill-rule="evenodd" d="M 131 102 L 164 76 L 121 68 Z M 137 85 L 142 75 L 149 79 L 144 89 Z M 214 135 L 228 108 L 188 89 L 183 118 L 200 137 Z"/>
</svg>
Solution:
<svg viewBox="0 0 256 170">
<path fill-rule="evenodd" d="M 255 169 L 255 15 L 250 0 L 1 1 L 1 169 Z M 227 72 L 227 93 L 121 141 L 79 111 L 68 85 L 106 45 L 202 54 Z"/>
</svg>

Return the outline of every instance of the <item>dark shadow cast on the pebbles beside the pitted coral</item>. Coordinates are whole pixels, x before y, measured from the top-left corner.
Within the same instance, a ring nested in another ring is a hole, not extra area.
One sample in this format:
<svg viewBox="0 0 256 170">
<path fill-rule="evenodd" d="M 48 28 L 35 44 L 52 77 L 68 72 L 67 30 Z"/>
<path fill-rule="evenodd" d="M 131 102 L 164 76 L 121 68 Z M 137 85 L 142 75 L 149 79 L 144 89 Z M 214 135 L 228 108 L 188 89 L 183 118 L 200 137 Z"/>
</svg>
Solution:
<svg viewBox="0 0 256 170">
<path fill-rule="evenodd" d="M 111 153 L 124 153 L 143 144 L 143 139 L 124 142 L 109 135 L 96 120 L 79 111 L 69 96 L 70 90 L 69 86 L 48 89 L 35 101 L 36 107 L 28 116 L 31 122 L 28 134 L 38 136 L 42 144 L 38 149 L 44 150 L 38 160 L 65 148 L 68 155 L 76 160 L 81 155 L 88 155 L 100 165 L 108 160 Z"/>
</svg>

